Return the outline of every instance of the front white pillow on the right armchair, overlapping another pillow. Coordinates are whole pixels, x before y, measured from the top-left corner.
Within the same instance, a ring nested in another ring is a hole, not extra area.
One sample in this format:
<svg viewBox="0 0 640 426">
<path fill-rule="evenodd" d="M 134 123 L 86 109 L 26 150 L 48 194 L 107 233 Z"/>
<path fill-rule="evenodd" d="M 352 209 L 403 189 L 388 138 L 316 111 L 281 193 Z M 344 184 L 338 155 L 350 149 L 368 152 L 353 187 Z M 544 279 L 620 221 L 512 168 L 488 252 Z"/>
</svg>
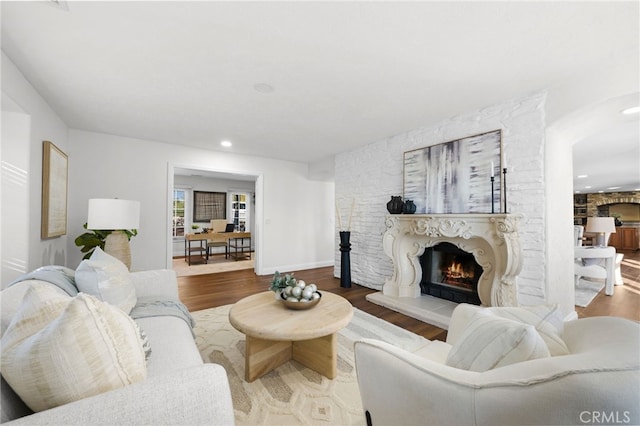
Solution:
<svg viewBox="0 0 640 426">
<path fill-rule="evenodd" d="M 480 311 L 451 348 L 446 364 L 482 372 L 548 356 L 549 349 L 533 326 Z"/>
</svg>

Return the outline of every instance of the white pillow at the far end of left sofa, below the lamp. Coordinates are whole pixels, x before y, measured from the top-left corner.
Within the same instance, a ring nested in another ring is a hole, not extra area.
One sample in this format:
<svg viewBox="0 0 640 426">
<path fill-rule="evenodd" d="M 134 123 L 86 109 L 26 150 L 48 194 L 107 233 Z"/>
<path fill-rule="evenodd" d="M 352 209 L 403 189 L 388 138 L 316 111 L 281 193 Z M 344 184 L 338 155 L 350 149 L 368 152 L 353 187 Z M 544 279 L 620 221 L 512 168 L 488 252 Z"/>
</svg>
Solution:
<svg viewBox="0 0 640 426">
<path fill-rule="evenodd" d="M 76 286 L 83 293 L 111 303 L 127 314 L 137 302 L 129 270 L 120 260 L 96 247 L 91 258 L 76 269 Z"/>
</svg>

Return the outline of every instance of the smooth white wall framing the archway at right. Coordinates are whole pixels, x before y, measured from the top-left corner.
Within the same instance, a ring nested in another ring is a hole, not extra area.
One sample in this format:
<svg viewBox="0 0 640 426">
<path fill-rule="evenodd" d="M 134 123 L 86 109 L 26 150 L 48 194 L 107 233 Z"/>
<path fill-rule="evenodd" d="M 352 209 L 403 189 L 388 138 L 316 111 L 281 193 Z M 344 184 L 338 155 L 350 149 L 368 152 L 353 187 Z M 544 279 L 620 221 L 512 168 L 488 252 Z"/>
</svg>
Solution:
<svg viewBox="0 0 640 426">
<path fill-rule="evenodd" d="M 638 99 L 638 52 L 611 57 L 605 63 L 570 76 L 549 88 L 545 105 L 547 143 L 547 302 L 559 303 L 575 317 L 573 280 L 573 145 L 581 137 L 610 125 L 610 105 Z"/>
</svg>

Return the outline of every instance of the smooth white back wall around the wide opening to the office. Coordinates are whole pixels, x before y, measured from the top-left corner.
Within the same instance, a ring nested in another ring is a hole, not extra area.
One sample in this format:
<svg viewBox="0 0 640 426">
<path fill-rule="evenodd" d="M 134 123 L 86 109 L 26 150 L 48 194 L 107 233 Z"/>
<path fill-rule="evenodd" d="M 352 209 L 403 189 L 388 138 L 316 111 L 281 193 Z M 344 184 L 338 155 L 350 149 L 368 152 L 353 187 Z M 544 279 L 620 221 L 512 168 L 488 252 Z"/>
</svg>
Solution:
<svg viewBox="0 0 640 426">
<path fill-rule="evenodd" d="M 309 180 L 305 164 L 81 130 L 70 131 L 69 163 L 70 235 L 83 232 L 89 198 L 141 202 L 139 233 L 131 240 L 132 269 L 164 268 L 171 257 L 167 229 L 173 185 L 169 171 L 174 165 L 260 177 L 255 215 L 258 273 L 333 264 L 334 184 Z M 72 239 L 68 245 L 68 264 L 75 267 L 80 251 Z"/>
</svg>

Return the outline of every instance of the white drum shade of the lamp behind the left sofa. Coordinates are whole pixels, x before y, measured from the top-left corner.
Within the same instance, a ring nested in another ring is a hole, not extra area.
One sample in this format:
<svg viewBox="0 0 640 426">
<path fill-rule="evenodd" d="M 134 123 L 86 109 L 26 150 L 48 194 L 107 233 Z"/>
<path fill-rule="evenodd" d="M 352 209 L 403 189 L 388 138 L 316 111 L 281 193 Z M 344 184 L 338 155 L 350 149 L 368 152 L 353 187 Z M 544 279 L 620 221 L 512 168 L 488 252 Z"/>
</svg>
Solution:
<svg viewBox="0 0 640 426">
<path fill-rule="evenodd" d="M 88 216 L 87 229 L 138 229 L 140 201 L 92 198 Z"/>
</svg>

